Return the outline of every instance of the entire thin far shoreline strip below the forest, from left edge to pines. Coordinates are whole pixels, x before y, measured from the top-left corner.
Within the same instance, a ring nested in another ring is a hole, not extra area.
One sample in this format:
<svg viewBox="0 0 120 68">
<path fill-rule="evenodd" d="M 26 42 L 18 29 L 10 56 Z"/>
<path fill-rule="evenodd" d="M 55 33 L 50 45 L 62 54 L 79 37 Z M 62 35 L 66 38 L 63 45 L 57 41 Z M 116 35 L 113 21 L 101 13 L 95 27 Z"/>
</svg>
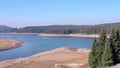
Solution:
<svg viewBox="0 0 120 68">
<path fill-rule="evenodd" d="M 47 34 L 47 33 L 0 33 L 0 34 L 37 34 L 38 36 L 46 37 L 83 37 L 83 38 L 99 38 L 99 34 Z M 109 34 L 107 38 L 109 38 Z"/>
</svg>

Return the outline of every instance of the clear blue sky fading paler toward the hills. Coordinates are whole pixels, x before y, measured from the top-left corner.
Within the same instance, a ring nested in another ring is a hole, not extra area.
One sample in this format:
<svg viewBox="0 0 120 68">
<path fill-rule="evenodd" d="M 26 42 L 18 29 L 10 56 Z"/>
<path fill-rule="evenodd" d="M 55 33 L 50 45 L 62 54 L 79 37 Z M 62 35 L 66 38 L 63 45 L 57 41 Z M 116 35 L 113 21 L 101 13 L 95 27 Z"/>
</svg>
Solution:
<svg viewBox="0 0 120 68">
<path fill-rule="evenodd" d="M 120 22 L 120 0 L 0 0 L 0 25 L 94 25 Z"/>
</svg>

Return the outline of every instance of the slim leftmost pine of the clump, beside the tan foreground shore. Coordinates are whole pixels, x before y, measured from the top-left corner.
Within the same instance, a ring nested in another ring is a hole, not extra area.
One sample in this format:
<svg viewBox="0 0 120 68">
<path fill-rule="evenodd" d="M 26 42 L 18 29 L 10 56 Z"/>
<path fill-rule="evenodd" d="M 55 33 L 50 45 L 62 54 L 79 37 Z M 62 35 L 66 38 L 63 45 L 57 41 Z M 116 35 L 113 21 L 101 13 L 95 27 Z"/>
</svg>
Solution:
<svg viewBox="0 0 120 68">
<path fill-rule="evenodd" d="M 89 65 L 91 68 L 96 68 L 97 67 L 97 58 L 96 58 L 96 45 L 97 41 L 96 38 L 94 39 L 92 50 L 89 54 Z"/>
</svg>

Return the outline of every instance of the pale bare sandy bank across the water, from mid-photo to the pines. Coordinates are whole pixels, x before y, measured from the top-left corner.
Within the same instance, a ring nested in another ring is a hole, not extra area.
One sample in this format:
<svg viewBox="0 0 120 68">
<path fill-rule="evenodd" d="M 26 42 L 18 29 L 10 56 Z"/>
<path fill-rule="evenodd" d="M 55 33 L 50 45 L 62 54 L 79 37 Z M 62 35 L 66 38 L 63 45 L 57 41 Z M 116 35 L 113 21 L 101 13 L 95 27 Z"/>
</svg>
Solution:
<svg viewBox="0 0 120 68">
<path fill-rule="evenodd" d="M 99 34 L 44 34 L 41 33 L 39 36 L 48 36 L 48 37 L 85 37 L 85 38 L 99 38 Z M 109 38 L 109 35 L 107 35 Z"/>
</svg>

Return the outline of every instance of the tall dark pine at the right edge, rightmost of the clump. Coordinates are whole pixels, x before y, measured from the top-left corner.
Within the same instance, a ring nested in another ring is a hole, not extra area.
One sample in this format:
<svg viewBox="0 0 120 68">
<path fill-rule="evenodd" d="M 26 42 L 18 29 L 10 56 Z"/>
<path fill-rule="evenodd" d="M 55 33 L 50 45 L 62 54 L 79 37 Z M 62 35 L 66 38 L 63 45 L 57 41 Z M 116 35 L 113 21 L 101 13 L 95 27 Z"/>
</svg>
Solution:
<svg viewBox="0 0 120 68">
<path fill-rule="evenodd" d="M 113 47 L 114 64 L 120 63 L 120 32 L 118 29 L 111 31 L 110 39 Z"/>
</svg>

